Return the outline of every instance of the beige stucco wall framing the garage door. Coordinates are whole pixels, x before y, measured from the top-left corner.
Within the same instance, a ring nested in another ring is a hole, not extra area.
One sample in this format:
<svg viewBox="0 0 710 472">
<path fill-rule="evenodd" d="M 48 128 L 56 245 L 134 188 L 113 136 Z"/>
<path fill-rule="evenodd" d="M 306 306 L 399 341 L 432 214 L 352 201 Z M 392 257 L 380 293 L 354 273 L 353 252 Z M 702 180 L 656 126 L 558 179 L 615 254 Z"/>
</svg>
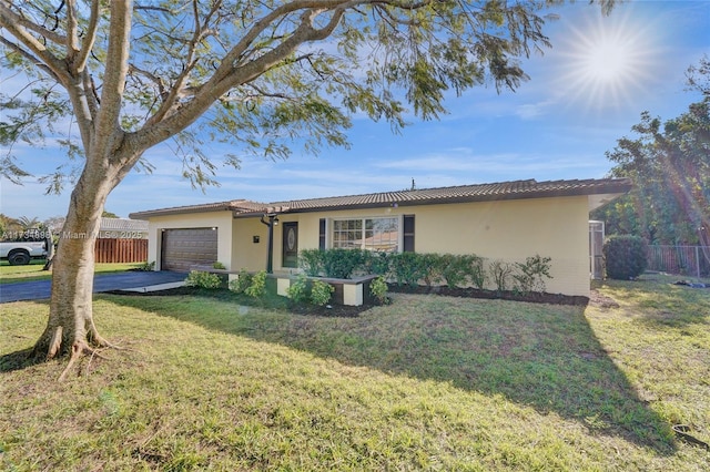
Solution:
<svg viewBox="0 0 710 472">
<path fill-rule="evenodd" d="M 191 213 L 183 215 L 155 216 L 149 219 L 148 260 L 155 261 L 160 270 L 160 244 L 163 229 L 216 228 L 217 260 L 229 269 L 232 260 L 232 212 Z"/>
</svg>

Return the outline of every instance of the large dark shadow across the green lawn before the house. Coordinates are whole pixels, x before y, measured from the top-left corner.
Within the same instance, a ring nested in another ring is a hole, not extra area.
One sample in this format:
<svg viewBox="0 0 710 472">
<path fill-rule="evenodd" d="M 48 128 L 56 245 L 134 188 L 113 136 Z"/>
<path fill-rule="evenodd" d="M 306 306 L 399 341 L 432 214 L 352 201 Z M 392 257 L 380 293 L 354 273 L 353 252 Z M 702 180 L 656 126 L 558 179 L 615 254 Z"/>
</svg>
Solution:
<svg viewBox="0 0 710 472">
<path fill-rule="evenodd" d="M 195 315 L 181 304 L 112 300 L 347 365 L 503 394 L 544 414 L 576 420 L 592 434 L 623 437 L 659 454 L 676 449 L 670 425 L 638 398 L 608 357 L 584 307 L 398 295 L 394 305 L 357 318 L 268 319 L 229 305 L 221 312 Z"/>
</svg>

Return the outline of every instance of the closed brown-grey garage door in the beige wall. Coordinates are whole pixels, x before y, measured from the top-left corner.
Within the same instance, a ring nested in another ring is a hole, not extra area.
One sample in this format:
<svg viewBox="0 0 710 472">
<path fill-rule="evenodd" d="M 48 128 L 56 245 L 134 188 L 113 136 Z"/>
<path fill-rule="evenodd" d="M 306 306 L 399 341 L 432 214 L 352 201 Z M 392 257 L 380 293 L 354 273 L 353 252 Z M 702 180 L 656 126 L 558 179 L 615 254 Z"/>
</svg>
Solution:
<svg viewBox="0 0 710 472">
<path fill-rule="evenodd" d="M 192 266 L 211 266 L 217 260 L 217 230 L 212 228 L 165 229 L 162 244 L 163 270 L 186 273 Z"/>
</svg>

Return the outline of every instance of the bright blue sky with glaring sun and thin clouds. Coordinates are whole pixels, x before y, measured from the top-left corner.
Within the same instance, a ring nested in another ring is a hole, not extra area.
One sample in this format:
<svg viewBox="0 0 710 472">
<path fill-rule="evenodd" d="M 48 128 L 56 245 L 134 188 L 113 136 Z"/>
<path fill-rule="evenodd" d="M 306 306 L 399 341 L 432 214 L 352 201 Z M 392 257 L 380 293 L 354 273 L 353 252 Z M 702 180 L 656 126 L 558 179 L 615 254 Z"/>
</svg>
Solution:
<svg viewBox="0 0 710 472">
<path fill-rule="evenodd" d="M 393 134 L 385 122 L 356 116 L 349 150 L 297 152 L 287 161 L 247 158 L 221 167 L 220 187 L 192 189 L 170 146 L 146 153 L 151 175 L 132 173 L 109 196 L 106 211 L 131 212 L 247 198 L 275 202 L 503 182 L 604 177 L 605 152 L 630 135 L 642 111 L 671 119 L 699 95 L 684 90 L 684 72 L 710 55 L 710 1 L 642 1 L 609 17 L 586 1 L 555 10 L 547 27 L 554 48 L 524 61 L 530 75 L 516 92 L 494 86 L 446 101 L 439 121 L 410 117 Z M 0 79 L 2 73 L 0 72 Z M 1 84 L 1 82 L 0 82 Z M 234 150 L 214 146 L 215 156 Z M 36 175 L 50 172 L 57 151 L 19 148 Z M 45 219 L 67 213 L 69 191 L 44 196 L 42 184 L 0 179 L 0 213 Z"/>
</svg>

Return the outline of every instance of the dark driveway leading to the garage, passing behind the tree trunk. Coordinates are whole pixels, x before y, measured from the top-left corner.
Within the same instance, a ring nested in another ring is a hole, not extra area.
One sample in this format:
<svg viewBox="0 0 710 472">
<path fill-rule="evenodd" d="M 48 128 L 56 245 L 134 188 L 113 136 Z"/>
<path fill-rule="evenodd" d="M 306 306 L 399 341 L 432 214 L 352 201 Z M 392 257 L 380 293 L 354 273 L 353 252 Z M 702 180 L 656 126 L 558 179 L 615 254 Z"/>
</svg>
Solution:
<svg viewBox="0 0 710 472">
<path fill-rule="evenodd" d="M 186 274 L 171 271 L 126 271 L 98 275 L 93 278 L 94 294 L 111 290 L 150 291 L 179 287 Z M 51 280 L 20 281 L 0 285 L 0 304 L 20 300 L 41 300 L 50 297 Z"/>
</svg>

